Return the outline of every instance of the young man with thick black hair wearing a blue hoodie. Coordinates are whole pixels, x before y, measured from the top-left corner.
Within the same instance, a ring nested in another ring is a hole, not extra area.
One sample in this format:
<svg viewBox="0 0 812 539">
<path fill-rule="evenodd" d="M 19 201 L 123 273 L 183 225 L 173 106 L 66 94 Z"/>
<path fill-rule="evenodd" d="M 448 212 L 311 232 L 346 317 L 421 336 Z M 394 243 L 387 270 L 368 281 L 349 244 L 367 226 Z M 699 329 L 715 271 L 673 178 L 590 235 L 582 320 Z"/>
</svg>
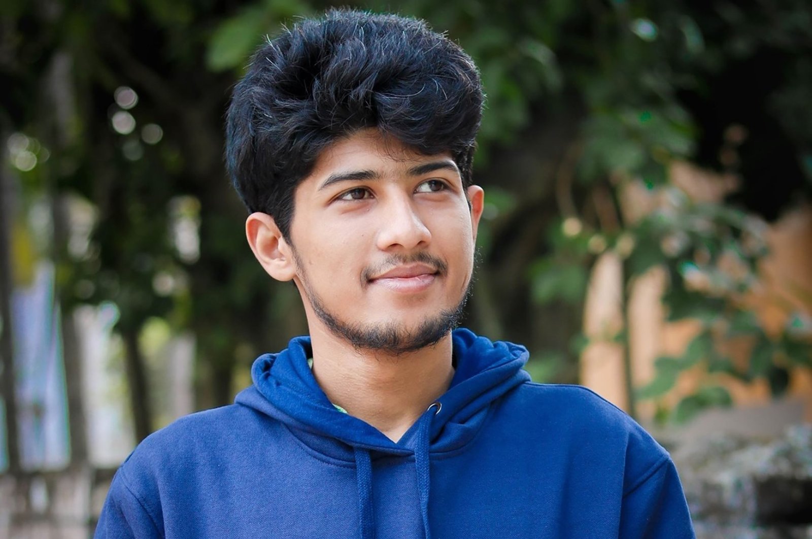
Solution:
<svg viewBox="0 0 812 539">
<path fill-rule="evenodd" d="M 97 537 L 693 537 L 667 453 L 528 354 L 453 330 L 473 273 L 482 88 L 412 19 L 332 11 L 261 48 L 227 160 L 309 337 L 231 406 L 154 433 Z"/>
</svg>

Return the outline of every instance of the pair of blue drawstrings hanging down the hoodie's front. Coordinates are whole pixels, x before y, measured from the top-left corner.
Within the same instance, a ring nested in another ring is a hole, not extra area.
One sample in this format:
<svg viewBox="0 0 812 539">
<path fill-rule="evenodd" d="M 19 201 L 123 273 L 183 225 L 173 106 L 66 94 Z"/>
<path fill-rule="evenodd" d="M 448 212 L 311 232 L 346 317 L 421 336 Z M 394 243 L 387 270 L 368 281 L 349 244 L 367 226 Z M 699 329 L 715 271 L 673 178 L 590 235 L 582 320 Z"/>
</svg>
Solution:
<svg viewBox="0 0 812 539">
<path fill-rule="evenodd" d="M 417 493 L 420 496 L 420 513 L 423 519 L 425 539 L 431 539 L 429 529 L 429 434 L 431 418 L 443 407 L 442 403 L 432 403 L 418 420 L 417 441 L 414 448 L 414 464 L 417 469 Z M 356 481 L 358 484 L 358 518 L 361 521 L 361 539 L 374 539 L 375 513 L 372 503 L 372 459 L 369 450 L 355 448 Z"/>
</svg>

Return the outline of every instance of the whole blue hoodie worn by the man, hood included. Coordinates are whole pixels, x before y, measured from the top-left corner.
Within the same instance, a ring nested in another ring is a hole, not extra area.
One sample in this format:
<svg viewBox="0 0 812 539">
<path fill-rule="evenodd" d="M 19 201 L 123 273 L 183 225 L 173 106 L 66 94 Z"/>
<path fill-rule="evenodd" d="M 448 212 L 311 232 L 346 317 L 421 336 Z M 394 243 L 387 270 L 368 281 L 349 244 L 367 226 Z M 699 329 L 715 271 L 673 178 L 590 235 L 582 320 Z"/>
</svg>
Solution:
<svg viewBox="0 0 812 539">
<path fill-rule="evenodd" d="M 96 537 L 693 537 L 672 460 L 624 412 L 530 382 L 524 347 L 456 330 L 453 351 L 445 395 L 392 442 L 333 407 L 294 338 L 235 404 L 133 451 Z"/>
</svg>

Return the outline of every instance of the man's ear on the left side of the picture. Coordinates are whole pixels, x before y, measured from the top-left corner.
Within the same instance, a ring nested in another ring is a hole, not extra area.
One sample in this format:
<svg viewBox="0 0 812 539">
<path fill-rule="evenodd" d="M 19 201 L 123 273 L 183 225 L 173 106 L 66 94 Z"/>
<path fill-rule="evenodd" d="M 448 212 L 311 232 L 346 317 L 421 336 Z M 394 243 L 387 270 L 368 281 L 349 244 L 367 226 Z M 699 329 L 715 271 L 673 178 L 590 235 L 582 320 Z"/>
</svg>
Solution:
<svg viewBox="0 0 812 539">
<path fill-rule="evenodd" d="M 274 218 L 255 212 L 245 220 L 245 237 L 266 272 L 277 281 L 290 281 L 296 275 L 296 261 Z"/>
</svg>

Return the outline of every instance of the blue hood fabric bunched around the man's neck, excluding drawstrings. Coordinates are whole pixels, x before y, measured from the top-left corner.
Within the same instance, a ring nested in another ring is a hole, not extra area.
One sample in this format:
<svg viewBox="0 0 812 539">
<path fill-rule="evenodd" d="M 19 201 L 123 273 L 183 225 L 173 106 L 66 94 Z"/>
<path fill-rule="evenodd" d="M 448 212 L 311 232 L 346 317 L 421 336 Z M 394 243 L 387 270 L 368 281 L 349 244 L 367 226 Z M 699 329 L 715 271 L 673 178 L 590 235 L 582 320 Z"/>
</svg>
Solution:
<svg viewBox="0 0 812 539">
<path fill-rule="evenodd" d="M 491 342 L 464 329 L 454 330 L 451 338 L 456 371 L 451 386 L 437 400 L 440 406 L 429 431 L 431 451 L 451 451 L 464 445 L 473 438 L 490 403 L 530 379 L 522 370 L 528 359 L 525 347 Z M 336 410 L 307 364 L 312 353 L 310 338 L 296 337 L 278 354 L 258 357 L 251 369 L 254 385 L 240 392 L 235 402 L 326 438 L 328 443 L 317 443 L 315 449 L 339 459 L 354 458 L 350 448 L 342 451 L 335 441 L 390 454 L 413 452 L 414 427 L 399 442 L 392 442 L 372 425 Z"/>
</svg>

